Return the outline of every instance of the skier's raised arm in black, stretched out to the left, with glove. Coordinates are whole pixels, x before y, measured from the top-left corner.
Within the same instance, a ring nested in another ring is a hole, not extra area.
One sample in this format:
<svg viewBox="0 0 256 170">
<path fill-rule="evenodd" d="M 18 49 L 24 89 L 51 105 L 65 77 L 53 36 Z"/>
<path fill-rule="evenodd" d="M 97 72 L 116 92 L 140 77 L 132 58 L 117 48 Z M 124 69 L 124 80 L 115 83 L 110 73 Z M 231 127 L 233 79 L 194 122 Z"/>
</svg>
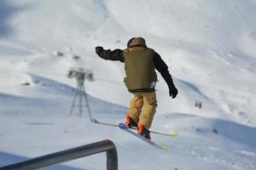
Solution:
<svg viewBox="0 0 256 170">
<path fill-rule="evenodd" d="M 114 49 L 113 51 L 111 51 L 110 49 L 106 50 L 102 47 L 96 47 L 95 51 L 96 51 L 96 54 L 102 59 L 118 60 L 121 62 L 125 61 L 123 50 L 121 49 Z"/>
</svg>

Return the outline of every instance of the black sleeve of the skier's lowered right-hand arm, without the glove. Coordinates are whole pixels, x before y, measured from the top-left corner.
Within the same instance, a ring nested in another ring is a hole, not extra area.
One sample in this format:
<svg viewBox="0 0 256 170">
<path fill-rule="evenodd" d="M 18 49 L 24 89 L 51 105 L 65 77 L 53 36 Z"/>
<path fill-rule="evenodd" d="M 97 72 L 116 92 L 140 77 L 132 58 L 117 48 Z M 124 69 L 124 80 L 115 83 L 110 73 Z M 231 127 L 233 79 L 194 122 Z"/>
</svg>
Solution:
<svg viewBox="0 0 256 170">
<path fill-rule="evenodd" d="M 156 52 L 154 54 L 154 66 L 155 69 L 159 71 L 161 76 L 165 79 L 168 88 L 175 87 L 172 81 L 172 76 L 168 71 L 168 66 L 166 65 L 165 61 L 161 59 L 160 54 L 157 54 Z"/>
</svg>

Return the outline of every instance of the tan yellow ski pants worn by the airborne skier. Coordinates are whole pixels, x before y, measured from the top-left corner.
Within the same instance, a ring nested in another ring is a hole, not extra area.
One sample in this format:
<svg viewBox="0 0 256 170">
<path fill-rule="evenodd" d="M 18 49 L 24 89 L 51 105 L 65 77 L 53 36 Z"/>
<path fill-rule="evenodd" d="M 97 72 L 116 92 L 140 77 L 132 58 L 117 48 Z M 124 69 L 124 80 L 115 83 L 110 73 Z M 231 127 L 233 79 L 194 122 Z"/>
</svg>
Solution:
<svg viewBox="0 0 256 170">
<path fill-rule="evenodd" d="M 133 95 L 127 115 L 131 116 L 138 125 L 143 125 L 143 127 L 149 129 L 157 107 L 155 92 Z"/>
</svg>

